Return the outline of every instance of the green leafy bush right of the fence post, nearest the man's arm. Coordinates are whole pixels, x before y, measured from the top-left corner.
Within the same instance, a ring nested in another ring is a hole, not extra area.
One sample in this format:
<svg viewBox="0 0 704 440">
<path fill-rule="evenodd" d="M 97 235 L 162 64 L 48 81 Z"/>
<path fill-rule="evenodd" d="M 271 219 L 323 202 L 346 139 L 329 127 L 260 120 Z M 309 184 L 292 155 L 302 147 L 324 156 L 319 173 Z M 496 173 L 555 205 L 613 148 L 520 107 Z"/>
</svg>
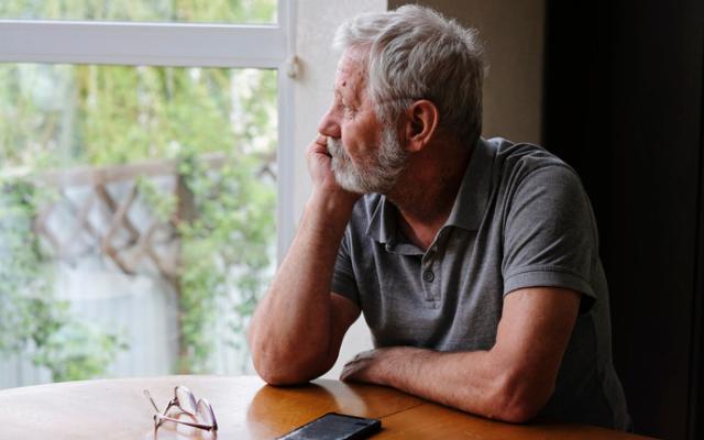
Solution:
<svg viewBox="0 0 704 440">
<path fill-rule="evenodd" d="M 197 163 L 184 165 L 198 216 L 179 228 L 182 334 L 188 349 L 179 370 L 207 373 L 219 300 L 234 299 L 232 331 L 242 333 L 242 322 L 252 315 L 265 284 L 273 250 L 275 193 L 273 186 L 253 178 L 261 167 L 253 156 L 228 161 L 218 173 Z"/>
</svg>

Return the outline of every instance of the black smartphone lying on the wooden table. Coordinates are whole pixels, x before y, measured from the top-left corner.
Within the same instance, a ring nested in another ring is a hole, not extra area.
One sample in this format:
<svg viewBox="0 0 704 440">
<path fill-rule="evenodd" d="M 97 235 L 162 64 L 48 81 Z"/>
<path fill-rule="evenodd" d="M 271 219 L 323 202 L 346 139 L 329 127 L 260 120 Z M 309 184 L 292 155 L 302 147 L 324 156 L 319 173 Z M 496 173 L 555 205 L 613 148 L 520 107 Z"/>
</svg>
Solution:
<svg viewBox="0 0 704 440">
<path fill-rule="evenodd" d="M 277 440 L 358 440 L 366 439 L 382 429 L 382 420 L 328 413 Z"/>
</svg>

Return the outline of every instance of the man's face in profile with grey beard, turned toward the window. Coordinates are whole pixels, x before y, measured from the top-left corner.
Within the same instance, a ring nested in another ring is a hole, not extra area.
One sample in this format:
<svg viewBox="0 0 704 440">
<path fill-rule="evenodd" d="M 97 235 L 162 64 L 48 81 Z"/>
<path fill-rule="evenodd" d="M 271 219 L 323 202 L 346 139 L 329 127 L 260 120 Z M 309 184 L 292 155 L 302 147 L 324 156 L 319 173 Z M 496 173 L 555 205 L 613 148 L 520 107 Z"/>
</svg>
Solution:
<svg viewBox="0 0 704 440">
<path fill-rule="evenodd" d="M 407 153 L 395 125 L 382 124 L 366 91 L 361 50 L 349 50 L 338 64 L 334 100 L 318 130 L 328 136 L 332 173 L 344 189 L 386 193 L 396 183 Z"/>
</svg>

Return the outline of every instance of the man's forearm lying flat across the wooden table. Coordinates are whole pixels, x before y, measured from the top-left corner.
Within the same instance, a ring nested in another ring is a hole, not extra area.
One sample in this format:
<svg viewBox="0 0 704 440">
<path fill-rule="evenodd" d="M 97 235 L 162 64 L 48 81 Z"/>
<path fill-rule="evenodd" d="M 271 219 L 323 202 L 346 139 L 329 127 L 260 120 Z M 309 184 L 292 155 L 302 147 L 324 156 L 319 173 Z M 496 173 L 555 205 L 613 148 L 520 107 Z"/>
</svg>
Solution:
<svg viewBox="0 0 704 440">
<path fill-rule="evenodd" d="M 365 382 L 504 421 L 531 419 L 552 391 L 542 377 L 521 376 L 524 372 L 491 351 L 443 353 L 396 346 L 385 349 L 378 361 Z"/>
</svg>

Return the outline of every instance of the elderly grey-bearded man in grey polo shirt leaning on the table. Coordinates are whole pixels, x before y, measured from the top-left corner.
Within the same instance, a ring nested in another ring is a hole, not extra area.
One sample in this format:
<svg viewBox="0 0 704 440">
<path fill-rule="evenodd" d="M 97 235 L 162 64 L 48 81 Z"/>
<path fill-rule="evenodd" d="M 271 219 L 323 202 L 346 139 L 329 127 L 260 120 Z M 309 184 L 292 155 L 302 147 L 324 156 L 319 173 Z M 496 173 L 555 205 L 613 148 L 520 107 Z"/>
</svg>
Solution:
<svg viewBox="0 0 704 440">
<path fill-rule="evenodd" d="M 353 19 L 336 45 L 312 194 L 249 333 L 261 376 L 323 374 L 362 311 L 376 349 L 343 381 L 628 429 L 588 199 L 544 150 L 480 138 L 475 32 L 408 6 Z"/>
</svg>

